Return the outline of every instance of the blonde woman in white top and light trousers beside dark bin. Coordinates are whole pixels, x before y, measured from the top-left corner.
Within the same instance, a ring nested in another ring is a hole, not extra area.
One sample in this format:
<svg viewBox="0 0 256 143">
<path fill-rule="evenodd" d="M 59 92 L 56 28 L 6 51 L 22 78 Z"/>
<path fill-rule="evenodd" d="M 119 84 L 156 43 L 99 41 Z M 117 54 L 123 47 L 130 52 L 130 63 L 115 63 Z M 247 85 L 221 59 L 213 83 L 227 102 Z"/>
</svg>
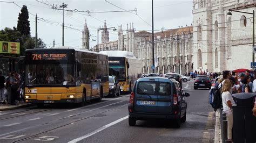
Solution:
<svg viewBox="0 0 256 143">
<path fill-rule="evenodd" d="M 222 104 L 223 111 L 226 113 L 227 117 L 227 138 L 228 140 L 232 140 L 232 128 L 233 128 L 233 110 L 232 105 L 235 105 L 235 102 L 231 96 L 230 89 L 232 87 L 232 83 L 230 80 L 225 80 L 222 86 Z"/>
</svg>

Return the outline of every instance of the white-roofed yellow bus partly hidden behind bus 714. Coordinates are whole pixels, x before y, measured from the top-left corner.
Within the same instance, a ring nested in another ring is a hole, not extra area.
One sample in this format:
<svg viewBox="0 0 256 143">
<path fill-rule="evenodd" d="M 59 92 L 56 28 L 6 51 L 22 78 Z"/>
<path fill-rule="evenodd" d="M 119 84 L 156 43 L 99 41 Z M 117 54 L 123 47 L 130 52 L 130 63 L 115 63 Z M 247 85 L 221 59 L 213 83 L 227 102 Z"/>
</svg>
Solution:
<svg viewBox="0 0 256 143">
<path fill-rule="evenodd" d="M 142 60 L 127 51 L 102 51 L 109 56 L 109 75 L 117 77 L 120 91 L 131 92 L 134 81 L 142 74 Z"/>
</svg>

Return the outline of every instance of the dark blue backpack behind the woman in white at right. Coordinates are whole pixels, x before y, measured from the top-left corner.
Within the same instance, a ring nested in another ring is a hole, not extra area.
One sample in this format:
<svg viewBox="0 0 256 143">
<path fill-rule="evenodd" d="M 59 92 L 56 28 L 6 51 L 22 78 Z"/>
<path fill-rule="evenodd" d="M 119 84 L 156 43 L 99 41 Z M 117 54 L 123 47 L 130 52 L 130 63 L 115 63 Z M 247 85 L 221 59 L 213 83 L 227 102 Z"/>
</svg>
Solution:
<svg viewBox="0 0 256 143">
<path fill-rule="evenodd" d="M 222 98 L 221 98 L 221 88 L 222 84 L 220 87 L 214 87 L 210 90 L 209 92 L 209 103 L 212 105 L 212 108 L 214 111 L 217 109 L 223 108 L 222 105 Z"/>
</svg>

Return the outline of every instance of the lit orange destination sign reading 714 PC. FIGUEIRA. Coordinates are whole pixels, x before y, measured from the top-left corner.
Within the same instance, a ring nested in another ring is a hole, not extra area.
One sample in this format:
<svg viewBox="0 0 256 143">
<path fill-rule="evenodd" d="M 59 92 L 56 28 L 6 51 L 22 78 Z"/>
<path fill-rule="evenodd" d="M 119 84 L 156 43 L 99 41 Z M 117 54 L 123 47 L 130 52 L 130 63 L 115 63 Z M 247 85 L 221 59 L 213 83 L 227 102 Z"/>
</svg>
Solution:
<svg viewBox="0 0 256 143">
<path fill-rule="evenodd" d="M 67 60 L 68 56 L 65 53 L 44 53 L 44 54 L 32 54 L 32 60 Z"/>
</svg>

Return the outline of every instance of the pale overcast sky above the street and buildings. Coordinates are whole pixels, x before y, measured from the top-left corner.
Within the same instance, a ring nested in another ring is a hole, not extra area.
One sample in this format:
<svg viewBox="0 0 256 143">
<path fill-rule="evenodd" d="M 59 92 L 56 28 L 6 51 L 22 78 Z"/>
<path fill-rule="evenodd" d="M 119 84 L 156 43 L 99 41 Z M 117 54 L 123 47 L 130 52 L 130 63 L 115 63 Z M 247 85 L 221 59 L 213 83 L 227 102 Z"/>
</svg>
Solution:
<svg viewBox="0 0 256 143">
<path fill-rule="evenodd" d="M 14 3 L 6 3 L 14 2 Z M 85 19 L 91 34 L 90 46 L 97 44 L 97 27 L 103 26 L 106 20 L 107 27 L 123 25 L 126 30 L 127 23 L 134 23 L 136 31 L 148 30 L 151 32 L 151 0 L 3 0 L 0 1 L 0 29 L 5 27 L 16 27 L 18 13 L 21 8 L 18 6 L 26 5 L 29 15 L 31 35 L 35 36 L 35 15 L 38 20 L 38 38 L 42 38 L 47 47 L 53 46 L 55 39 L 56 46 L 62 46 L 62 10 L 53 10 L 50 5 L 57 4 L 57 8 L 62 3 L 68 4 L 66 10 L 89 10 L 90 16 L 86 12 L 64 12 L 65 26 L 65 46 L 82 47 L 82 30 Z M 17 5 L 16 5 L 17 4 Z M 119 8 L 118 8 L 118 7 Z M 121 8 L 121 9 L 120 9 Z M 120 11 L 137 9 L 135 12 L 107 12 L 97 13 L 97 11 Z M 44 20 L 43 20 L 44 19 Z M 160 30 L 177 28 L 178 26 L 191 25 L 192 23 L 192 0 L 154 0 L 154 29 Z M 99 43 L 101 31 L 99 33 Z M 110 30 L 110 40 L 116 40 L 117 31 Z M 96 40 L 96 41 L 93 41 Z"/>
</svg>

